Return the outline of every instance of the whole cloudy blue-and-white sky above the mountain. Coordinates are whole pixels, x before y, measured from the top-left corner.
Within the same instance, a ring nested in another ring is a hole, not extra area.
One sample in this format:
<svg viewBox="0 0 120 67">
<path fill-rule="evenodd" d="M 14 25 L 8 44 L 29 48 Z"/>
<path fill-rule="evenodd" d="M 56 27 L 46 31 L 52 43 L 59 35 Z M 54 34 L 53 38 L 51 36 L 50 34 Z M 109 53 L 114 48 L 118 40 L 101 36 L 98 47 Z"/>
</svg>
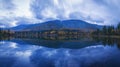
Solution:
<svg viewBox="0 0 120 67">
<path fill-rule="evenodd" d="M 0 0 L 0 27 L 77 19 L 98 25 L 120 22 L 120 0 Z"/>
</svg>

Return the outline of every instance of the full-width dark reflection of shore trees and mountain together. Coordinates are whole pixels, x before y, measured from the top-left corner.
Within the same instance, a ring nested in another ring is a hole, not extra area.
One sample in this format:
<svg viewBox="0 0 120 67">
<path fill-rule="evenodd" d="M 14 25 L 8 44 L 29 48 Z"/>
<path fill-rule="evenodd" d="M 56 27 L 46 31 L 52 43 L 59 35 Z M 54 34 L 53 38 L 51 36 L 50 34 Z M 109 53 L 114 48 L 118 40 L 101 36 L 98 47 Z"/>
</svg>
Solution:
<svg viewBox="0 0 120 67">
<path fill-rule="evenodd" d="M 68 47 L 68 48 L 81 48 L 90 45 L 102 44 L 104 46 L 117 46 L 120 48 L 120 38 L 112 38 L 112 37 L 75 37 L 75 36 L 43 36 L 41 38 L 15 38 L 15 37 L 2 37 L 1 40 L 13 40 L 20 39 L 28 44 L 60 48 L 60 47 Z M 68 46 L 69 45 L 69 46 Z"/>
</svg>

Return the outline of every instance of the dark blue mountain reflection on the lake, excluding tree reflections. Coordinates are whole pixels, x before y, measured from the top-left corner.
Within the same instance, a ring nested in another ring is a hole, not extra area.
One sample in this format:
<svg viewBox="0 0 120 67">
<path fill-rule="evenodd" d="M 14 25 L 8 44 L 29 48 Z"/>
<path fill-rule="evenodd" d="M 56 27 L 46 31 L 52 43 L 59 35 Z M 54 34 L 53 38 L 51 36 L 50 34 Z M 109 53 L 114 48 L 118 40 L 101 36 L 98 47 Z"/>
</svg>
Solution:
<svg viewBox="0 0 120 67">
<path fill-rule="evenodd" d="M 99 44 L 91 39 L 82 40 L 40 40 L 40 39 L 13 39 L 13 42 L 19 42 L 20 44 L 39 45 L 48 48 L 69 48 L 80 49 L 86 46 L 92 46 Z"/>
</svg>

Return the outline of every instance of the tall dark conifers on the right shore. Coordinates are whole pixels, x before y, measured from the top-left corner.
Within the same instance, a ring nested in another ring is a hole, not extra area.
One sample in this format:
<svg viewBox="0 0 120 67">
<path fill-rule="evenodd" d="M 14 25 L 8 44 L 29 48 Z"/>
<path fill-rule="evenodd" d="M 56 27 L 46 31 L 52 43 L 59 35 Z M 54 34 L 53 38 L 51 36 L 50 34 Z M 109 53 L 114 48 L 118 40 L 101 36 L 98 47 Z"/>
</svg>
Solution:
<svg viewBox="0 0 120 67">
<path fill-rule="evenodd" d="M 92 33 L 93 35 L 120 35 L 120 23 L 117 27 L 103 26 L 102 29 L 97 29 Z"/>
</svg>

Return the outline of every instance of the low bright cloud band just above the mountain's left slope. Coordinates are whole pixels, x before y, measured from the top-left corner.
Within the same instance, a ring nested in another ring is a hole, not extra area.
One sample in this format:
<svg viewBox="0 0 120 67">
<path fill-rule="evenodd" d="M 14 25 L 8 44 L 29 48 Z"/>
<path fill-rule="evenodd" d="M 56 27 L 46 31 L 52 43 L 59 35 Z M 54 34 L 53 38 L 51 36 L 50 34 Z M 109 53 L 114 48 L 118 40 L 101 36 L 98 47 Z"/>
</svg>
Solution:
<svg viewBox="0 0 120 67">
<path fill-rule="evenodd" d="M 0 19 L 0 27 L 2 28 L 9 28 L 14 27 L 18 25 L 24 25 L 24 24 L 35 24 L 35 23 L 41 23 L 42 20 L 38 20 L 35 18 L 25 18 L 25 17 L 11 17 Z"/>
</svg>

